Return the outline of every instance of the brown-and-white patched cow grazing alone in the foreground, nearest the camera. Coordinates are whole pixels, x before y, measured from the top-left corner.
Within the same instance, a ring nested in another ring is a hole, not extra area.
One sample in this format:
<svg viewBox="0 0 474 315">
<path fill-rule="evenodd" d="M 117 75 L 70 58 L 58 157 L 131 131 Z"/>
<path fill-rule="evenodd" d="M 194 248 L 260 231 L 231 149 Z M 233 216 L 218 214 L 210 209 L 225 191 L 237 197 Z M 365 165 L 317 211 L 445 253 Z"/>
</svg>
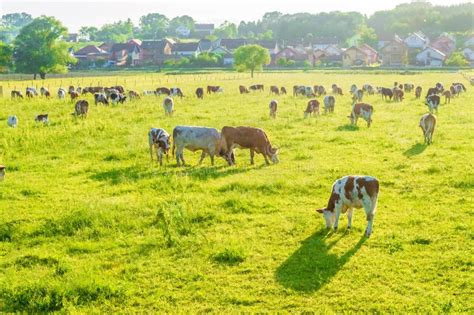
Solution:
<svg viewBox="0 0 474 315">
<path fill-rule="evenodd" d="M 332 186 L 331 196 L 325 208 L 316 210 L 324 215 L 326 228 L 339 227 L 339 216 L 347 212 L 347 229 L 352 227 L 352 211 L 354 208 L 364 208 L 367 217 L 365 236 L 370 237 L 374 224 L 379 181 L 372 176 L 344 176 L 336 180 Z"/>
</svg>

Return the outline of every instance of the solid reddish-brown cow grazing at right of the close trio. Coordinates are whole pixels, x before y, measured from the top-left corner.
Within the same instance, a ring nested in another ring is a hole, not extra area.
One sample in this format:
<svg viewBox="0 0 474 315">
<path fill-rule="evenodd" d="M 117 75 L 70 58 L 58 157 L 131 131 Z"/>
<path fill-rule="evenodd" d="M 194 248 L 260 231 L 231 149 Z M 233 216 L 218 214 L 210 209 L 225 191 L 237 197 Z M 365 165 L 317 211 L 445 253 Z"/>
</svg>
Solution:
<svg viewBox="0 0 474 315">
<path fill-rule="evenodd" d="M 229 165 L 235 164 L 233 158 L 233 150 L 235 148 L 250 150 L 250 164 L 254 164 L 254 155 L 260 153 L 265 158 L 265 163 L 270 164 L 269 159 L 274 163 L 278 163 L 278 148 L 273 148 L 268 140 L 268 136 L 260 128 L 254 127 L 230 127 L 222 128 L 222 148 L 227 154 L 227 162 Z"/>
</svg>

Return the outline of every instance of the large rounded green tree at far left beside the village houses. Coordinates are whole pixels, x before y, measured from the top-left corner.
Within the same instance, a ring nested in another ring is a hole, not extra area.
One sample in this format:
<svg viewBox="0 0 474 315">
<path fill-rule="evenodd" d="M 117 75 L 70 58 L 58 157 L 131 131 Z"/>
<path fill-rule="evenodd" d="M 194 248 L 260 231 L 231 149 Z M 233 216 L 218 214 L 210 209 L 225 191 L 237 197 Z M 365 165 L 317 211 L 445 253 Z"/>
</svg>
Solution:
<svg viewBox="0 0 474 315">
<path fill-rule="evenodd" d="M 67 44 L 60 40 L 67 29 L 53 17 L 41 16 L 23 27 L 14 42 L 13 58 L 17 72 L 32 73 L 42 79 L 47 73 L 67 72 L 75 62 L 69 55 Z"/>
</svg>

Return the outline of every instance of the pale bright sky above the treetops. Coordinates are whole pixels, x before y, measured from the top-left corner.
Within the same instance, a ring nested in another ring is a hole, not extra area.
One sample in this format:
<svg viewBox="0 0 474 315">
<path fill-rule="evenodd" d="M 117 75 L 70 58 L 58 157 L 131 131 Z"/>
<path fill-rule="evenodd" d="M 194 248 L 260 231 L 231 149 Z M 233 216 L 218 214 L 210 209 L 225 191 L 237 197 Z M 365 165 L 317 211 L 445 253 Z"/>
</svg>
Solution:
<svg viewBox="0 0 474 315">
<path fill-rule="evenodd" d="M 265 12 L 282 13 L 358 11 L 370 15 L 392 9 L 410 0 L 0 0 L 0 15 L 26 12 L 33 17 L 54 16 L 70 32 L 81 26 L 102 26 L 130 18 L 138 24 L 140 16 L 161 13 L 168 18 L 190 15 L 200 23 L 219 25 L 224 21 L 253 21 Z M 431 0 L 436 5 L 450 5 L 469 0 Z"/>
</svg>

